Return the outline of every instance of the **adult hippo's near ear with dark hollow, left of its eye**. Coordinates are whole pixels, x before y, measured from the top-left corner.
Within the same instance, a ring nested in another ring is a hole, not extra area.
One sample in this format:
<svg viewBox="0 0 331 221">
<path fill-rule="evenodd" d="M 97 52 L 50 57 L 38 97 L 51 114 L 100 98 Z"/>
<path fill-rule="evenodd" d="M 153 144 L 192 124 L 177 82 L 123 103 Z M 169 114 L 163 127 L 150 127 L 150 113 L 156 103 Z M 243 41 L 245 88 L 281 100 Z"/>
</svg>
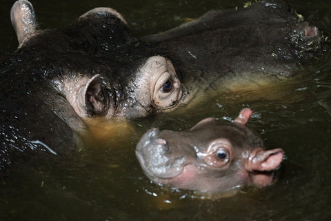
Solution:
<svg viewBox="0 0 331 221">
<path fill-rule="evenodd" d="M 106 115 L 110 105 L 109 95 L 102 86 L 100 75 L 94 75 L 78 93 L 78 104 L 88 116 Z"/>
</svg>

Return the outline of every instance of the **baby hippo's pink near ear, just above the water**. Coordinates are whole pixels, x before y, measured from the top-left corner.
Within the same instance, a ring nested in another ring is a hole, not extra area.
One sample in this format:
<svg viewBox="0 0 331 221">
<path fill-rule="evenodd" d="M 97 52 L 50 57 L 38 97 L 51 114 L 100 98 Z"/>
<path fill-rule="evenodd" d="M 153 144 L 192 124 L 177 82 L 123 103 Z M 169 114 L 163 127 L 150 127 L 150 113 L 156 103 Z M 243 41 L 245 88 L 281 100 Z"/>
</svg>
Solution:
<svg viewBox="0 0 331 221">
<path fill-rule="evenodd" d="M 283 160 L 283 150 L 276 148 L 269 151 L 259 149 L 252 153 L 246 165 L 248 171 L 271 171 L 277 168 Z"/>
</svg>

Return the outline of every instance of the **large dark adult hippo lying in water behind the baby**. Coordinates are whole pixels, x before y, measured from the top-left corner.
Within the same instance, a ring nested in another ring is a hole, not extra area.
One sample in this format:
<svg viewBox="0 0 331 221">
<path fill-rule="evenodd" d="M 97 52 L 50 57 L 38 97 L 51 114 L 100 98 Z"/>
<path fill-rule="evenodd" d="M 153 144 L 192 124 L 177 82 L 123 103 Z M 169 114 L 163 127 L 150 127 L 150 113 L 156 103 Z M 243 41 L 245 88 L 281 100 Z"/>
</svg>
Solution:
<svg viewBox="0 0 331 221">
<path fill-rule="evenodd" d="M 11 19 L 19 48 L 0 64 L 0 168 L 36 149 L 65 153 L 85 119 L 154 115 L 206 88 L 290 76 L 324 43 L 316 27 L 274 0 L 208 12 L 142 39 L 110 8 L 40 30 L 31 3 L 20 0 Z"/>
</svg>

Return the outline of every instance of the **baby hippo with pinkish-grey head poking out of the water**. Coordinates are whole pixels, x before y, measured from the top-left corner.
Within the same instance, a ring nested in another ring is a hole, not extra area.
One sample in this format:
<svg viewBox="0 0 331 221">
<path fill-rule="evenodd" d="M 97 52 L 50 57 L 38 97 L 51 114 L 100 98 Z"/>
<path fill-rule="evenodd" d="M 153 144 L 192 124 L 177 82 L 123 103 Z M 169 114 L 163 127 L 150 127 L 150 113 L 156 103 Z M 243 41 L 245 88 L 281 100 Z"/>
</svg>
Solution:
<svg viewBox="0 0 331 221">
<path fill-rule="evenodd" d="M 268 186 L 283 150 L 265 150 L 261 137 L 245 126 L 250 115 L 245 108 L 234 122 L 203 119 L 190 131 L 152 128 L 137 144 L 137 158 L 153 182 L 176 189 L 222 194 Z"/>
</svg>

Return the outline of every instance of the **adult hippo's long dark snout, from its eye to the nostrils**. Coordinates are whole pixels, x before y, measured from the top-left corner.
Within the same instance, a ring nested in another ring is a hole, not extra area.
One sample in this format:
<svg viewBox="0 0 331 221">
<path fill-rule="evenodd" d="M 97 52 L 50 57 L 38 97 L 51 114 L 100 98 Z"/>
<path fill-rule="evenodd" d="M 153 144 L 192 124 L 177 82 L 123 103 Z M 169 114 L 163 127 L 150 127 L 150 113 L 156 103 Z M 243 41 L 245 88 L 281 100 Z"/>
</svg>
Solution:
<svg viewBox="0 0 331 221">
<path fill-rule="evenodd" d="M 157 53 L 172 61 L 189 93 L 206 85 L 236 90 L 290 77 L 323 51 L 319 29 L 291 11 L 283 1 L 257 1 L 239 10 L 207 12 L 143 39 L 158 42 Z"/>
</svg>

